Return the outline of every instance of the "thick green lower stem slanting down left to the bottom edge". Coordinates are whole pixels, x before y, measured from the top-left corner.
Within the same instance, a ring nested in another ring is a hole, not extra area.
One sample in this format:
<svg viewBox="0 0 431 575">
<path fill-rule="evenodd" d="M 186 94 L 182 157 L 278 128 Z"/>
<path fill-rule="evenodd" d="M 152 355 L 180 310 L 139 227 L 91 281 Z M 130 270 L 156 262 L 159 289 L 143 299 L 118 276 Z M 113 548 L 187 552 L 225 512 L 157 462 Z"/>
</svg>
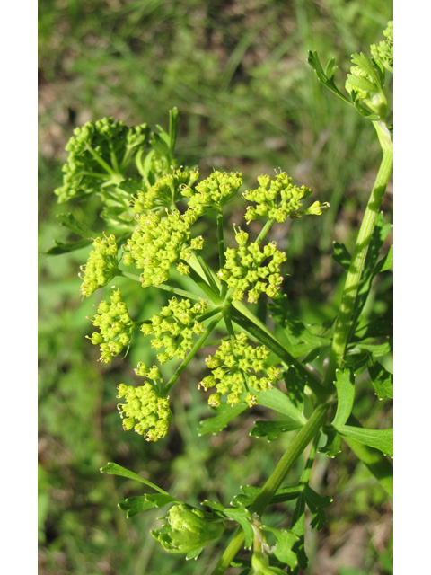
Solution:
<svg viewBox="0 0 431 575">
<path fill-rule="evenodd" d="M 252 512 L 254 511 L 261 516 L 263 511 L 268 507 L 269 501 L 274 497 L 281 483 L 285 480 L 287 473 L 292 469 L 310 441 L 319 433 L 321 426 L 326 420 L 328 407 L 329 403 L 321 404 L 312 413 L 312 416 L 305 423 L 303 429 L 296 434 L 293 442 L 287 448 L 286 453 L 281 457 L 276 468 L 270 474 L 268 481 L 251 504 L 250 510 Z M 244 532 L 242 529 L 239 529 L 235 535 L 233 535 L 233 539 L 224 550 L 220 561 L 216 565 L 216 569 L 211 575 L 223 575 L 233 561 L 236 553 L 240 550 L 243 540 Z"/>
</svg>

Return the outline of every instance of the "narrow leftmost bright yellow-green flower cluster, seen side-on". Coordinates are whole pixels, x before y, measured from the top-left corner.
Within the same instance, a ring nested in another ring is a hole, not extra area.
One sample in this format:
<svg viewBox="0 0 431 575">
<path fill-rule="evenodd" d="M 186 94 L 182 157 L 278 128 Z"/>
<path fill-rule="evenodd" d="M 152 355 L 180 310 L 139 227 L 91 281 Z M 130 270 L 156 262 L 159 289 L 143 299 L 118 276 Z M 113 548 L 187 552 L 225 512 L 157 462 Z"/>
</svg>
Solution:
<svg viewBox="0 0 431 575">
<path fill-rule="evenodd" d="M 83 280 L 81 295 L 87 297 L 91 296 L 96 289 L 106 286 L 116 275 L 119 266 L 117 242 L 114 235 L 96 238 L 92 247 L 94 250 L 90 252 L 87 263 L 81 266 L 84 274 L 79 275 Z"/>
</svg>

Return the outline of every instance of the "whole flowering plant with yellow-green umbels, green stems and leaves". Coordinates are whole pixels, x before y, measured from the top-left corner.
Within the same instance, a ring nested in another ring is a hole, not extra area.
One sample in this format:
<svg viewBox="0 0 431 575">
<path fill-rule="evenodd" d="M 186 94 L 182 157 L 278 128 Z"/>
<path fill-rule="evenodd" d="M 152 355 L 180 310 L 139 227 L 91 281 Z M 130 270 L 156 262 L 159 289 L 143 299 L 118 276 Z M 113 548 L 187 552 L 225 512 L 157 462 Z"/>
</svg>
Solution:
<svg viewBox="0 0 431 575">
<path fill-rule="evenodd" d="M 174 385 L 205 348 L 206 372 L 197 385 L 216 415 L 204 421 L 201 433 L 224 429 L 257 404 L 281 413 L 284 419 L 258 421 L 251 436 L 275 440 L 297 429 L 268 481 L 261 488 L 242 486 L 229 507 L 205 500 L 202 506 L 209 511 L 193 508 L 117 464 L 101 469 L 137 479 L 152 490 L 120 502 L 128 516 L 171 506 L 161 529 L 152 532 L 168 552 L 196 559 L 205 546 L 235 526 L 213 575 L 221 575 L 231 564 L 242 566 L 244 574 L 255 575 L 284 573 L 285 569 L 298 573 L 305 568 L 305 509 L 310 511 L 311 526 L 321 529 L 330 504 L 329 497 L 310 486 L 318 451 L 336 457 L 345 441 L 391 495 L 391 429 L 365 429 L 353 412 L 359 373 L 367 373 L 367 382 L 379 399 L 392 397 L 392 376 L 378 359 L 391 351 L 391 341 L 382 343 L 380 330 L 361 323 L 373 279 L 390 270 L 392 262 L 391 250 L 379 259 L 391 227 L 383 225 L 379 213 L 393 162 L 385 93 L 385 75 L 393 70 L 391 22 L 383 34 L 386 40 L 371 47 L 371 57 L 353 55 L 347 94 L 335 84 L 333 60 L 324 70 L 318 55 L 309 54 L 321 83 L 373 124 L 383 150 L 354 252 L 350 255 L 345 246 L 334 246 L 334 258 L 347 272 L 339 314 L 317 334 L 286 313 L 287 254 L 276 241 L 265 241 L 271 228 L 283 226 L 287 218 L 293 221 L 295 234 L 301 218 L 324 217 L 330 206 L 310 201 L 311 189 L 298 187 L 281 171 L 272 178 L 262 174 L 255 189 L 243 190 L 242 173 L 215 171 L 201 179 L 196 166 L 179 167 L 176 109 L 170 111 L 167 132 L 160 127 L 151 132 L 146 124 L 128 128 L 121 121 L 102 119 L 76 128 L 66 147 L 69 157 L 63 185 L 56 190 L 58 199 L 65 202 L 98 193 L 106 229 L 92 234 L 83 222 L 65 216 L 63 223 L 83 240 L 75 246 L 57 245 L 50 252 L 92 244 L 81 269 L 83 297 L 110 286 L 118 277 L 139 282 L 144 290 L 163 290 L 171 297 L 159 313 L 138 321 L 120 289 L 112 286 L 110 302 L 101 301 L 97 313 L 89 317 L 96 328 L 89 339 L 100 347 L 102 363 L 127 354 L 136 338 L 146 338 L 148 348 L 155 350 L 152 367 L 141 361 L 135 369 L 144 383 L 141 379 L 136 385 L 118 385 L 123 429 L 134 429 L 147 441 L 162 441 L 174 420 L 170 406 Z M 237 199 L 242 201 L 243 226 L 226 230 L 226 207 Z M 202 226 L 208 214 L 216 217 L 214 229 Z M 251 222 L 256 224 L 250 226 Z M 233 245 L 227 245 L 228 232 Z M 213 245 L 217 245 L 216 263 L 210 257 Z M 187 283 L 181 278 L 187 278 Z M 254 305 L 262 301 L 268 303 L 276 328 L 269 329 L 256 313 Z M 216 343 L 210 336 L 216 337 Z M 323 360 L 315 361 L 318 357 Z M 166 365 L 171 362 L 175 367 L 169 372 Z M 326 440 L 321 442 L 321 438 Z M 309 446 L 300 482 L 283 486 L 287 473 Z M 288 500 L 295 500 L 290 526 L 266 526 L 261 516 L 268 506 Z M 268 535 L 275 544 L 268 544 Z M 235 560 L 242 544 L 252 550 L 251 560 Z"/>
</svg>

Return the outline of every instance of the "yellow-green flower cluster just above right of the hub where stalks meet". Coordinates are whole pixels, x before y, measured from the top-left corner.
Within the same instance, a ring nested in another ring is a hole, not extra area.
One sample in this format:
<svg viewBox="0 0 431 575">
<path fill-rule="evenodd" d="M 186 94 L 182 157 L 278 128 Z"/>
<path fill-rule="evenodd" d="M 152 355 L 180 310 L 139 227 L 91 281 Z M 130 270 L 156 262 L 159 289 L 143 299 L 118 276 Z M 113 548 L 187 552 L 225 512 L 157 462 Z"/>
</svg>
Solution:
<svg viewBox="0 0 431 575">
<path fill-rule="evenodd" d="M 269 297 L 277 296 L 283 281 L 279 273 L 280 263 L 287 258 L 285 252 L 277 250 L 277 243 L 268 243 L 260 250 L 259 243 L 247 245 L 248 238 L 246 232 L 236 232 L 235 240 L 239 247 L 227 248 L 224 268 L 217 272 L 217 276 L 227 282 L 229 288 L 234 288 L 234 300 L 241 301 L 247 292 L 248 302 L 254 304 L 262 293 Z M 267 258 L 271 260 L 262 265 Z"/>
</svg>

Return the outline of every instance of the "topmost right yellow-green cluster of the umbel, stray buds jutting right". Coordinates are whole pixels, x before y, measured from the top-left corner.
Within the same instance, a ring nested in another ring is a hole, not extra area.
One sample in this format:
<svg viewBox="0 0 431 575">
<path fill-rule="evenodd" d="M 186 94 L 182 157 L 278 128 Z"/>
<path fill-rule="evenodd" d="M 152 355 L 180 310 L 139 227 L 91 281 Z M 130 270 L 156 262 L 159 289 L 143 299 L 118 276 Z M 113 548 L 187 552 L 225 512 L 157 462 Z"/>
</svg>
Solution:
<svg viewBox="0 0 431 575">
<path fill-rule="evenodd" d="M 320 215 L 322 209 L 328 208 L 328 204 L 316 201 L 311 208 L 300 211 L 303 206 L 301 200 L 308 198 L 312 190 L 292 184 L 292 178 L 286 172 L 277 173 L 273 181 L 268 175 L 259 176 L 258 182 L 257 190 L 246 190 L 242 194 L 244 199 L 256 203 L 256 206 L 249 206 L 245 212 L 248 224 L 259 217 L 268 217 L 282 223 L 286 222 L 287 217 L 297 219 L 305 214 Z"/>
</svg>

